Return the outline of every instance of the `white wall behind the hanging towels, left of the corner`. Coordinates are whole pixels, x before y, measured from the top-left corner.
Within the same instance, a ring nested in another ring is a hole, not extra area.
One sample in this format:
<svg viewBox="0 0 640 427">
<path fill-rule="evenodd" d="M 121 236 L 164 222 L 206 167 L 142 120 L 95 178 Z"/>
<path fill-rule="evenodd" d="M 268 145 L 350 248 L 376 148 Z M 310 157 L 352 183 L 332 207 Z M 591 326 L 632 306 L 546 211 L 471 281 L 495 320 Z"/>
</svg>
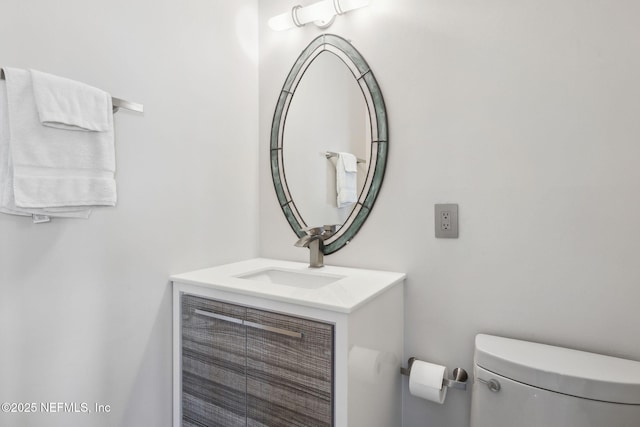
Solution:
<svg viewBox="0 0 640 427">
<path fill-rule="evenodd" d="M 0 215 L 0 402 L 109 414 L 0 425 L 169 426 L 168 276 L 257 253 L 257 1 L 3 0 L 0 65 L 144 103 L 116 117 L 115 208 Z"/>
</svg>

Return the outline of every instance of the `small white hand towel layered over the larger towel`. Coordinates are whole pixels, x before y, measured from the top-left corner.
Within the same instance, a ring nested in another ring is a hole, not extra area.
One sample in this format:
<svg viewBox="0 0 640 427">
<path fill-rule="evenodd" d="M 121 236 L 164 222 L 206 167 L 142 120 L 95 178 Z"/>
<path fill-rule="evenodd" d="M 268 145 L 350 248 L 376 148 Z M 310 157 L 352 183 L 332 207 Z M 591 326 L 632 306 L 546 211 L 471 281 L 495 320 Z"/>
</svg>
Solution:
<svg viewBox="0 0 640 427">
<path fill-rule="evenodd" d="M 112 127 L 111 96 L 105 91 L 29 70 L 40 122 L 67 130 L 106 132 Z"/>
</svg>

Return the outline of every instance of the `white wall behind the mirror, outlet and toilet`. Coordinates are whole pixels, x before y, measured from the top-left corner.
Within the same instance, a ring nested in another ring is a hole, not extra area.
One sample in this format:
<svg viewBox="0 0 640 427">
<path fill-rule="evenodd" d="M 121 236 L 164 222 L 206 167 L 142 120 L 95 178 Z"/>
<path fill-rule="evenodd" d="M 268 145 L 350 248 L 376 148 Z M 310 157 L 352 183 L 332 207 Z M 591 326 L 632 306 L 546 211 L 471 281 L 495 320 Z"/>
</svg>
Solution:
<svg viewBox="0 0 640 427">
<path fill-rule="evenodd" d="M 640 3 L 614 3 L 372 0 L 327 30 L 371 65 L 391 141 L 372 214 L 325 261 L 408 274 L 407 357 L 471 370 L 485 332 L 640 360 Z M 278 92 L 321 33 L 264 25 L 293 4 L 260 2 L 260 253 L 302 261 L 268 167 Z M 457 240 L 433 237 L 443 202 Z M 464 427 L 469 397 L 405 396 L 404 425 Z"/>
</svg>

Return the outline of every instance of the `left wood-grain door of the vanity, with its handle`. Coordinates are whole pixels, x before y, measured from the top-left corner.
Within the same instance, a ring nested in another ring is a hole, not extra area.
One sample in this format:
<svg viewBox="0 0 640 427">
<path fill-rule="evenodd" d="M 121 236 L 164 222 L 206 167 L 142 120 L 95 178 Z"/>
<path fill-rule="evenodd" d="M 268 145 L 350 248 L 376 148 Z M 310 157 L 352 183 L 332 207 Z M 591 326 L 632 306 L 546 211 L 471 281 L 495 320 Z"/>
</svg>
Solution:
<svg viewBox="0 0 640 427">
<path fill-rule="evenodd" d="M 247 309 L 182 295 L 182 425 L 246 426 Z"/>
</svg>

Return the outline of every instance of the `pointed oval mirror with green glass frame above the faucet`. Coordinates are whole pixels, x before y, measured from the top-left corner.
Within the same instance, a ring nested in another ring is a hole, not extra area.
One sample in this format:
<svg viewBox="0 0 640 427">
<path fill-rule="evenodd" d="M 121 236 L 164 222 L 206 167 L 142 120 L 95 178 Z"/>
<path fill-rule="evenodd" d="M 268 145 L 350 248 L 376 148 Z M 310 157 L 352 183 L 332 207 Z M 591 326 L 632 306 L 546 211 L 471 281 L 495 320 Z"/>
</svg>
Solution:
<svg viewBox="0 0 640 427">
<path fill-rule="evenodd" d="M 382 185 L 387 146 L 384 100 L 367 62 L 347 40 L 317 37 L 289 72 L 271 127 L 271 176 L 296 235 L 336 225 L 324 253 L 349 243 Z M 357 160 L 346 199 L 336 189 L 339 153 Z"/>
</svg>

